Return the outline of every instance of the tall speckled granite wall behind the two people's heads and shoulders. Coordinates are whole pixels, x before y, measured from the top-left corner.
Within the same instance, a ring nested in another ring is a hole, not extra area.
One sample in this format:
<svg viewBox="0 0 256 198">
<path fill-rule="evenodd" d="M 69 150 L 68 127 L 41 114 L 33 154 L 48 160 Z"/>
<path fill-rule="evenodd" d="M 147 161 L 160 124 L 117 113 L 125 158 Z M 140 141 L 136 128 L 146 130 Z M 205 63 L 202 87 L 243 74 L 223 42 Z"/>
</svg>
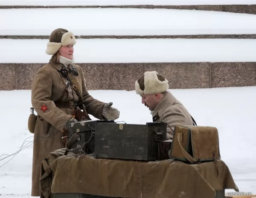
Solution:
<svg viewBox="0 0 256 198">
<path fill-rule="evenodd" d="M 44 64 L 0 64 L 0 90 L 30 89 Z M 84 63 L 88 90 L 134 90 L 144 71 L 155 70 L 172 89 L 256 86 L 256 62 Z"/>
</svg>

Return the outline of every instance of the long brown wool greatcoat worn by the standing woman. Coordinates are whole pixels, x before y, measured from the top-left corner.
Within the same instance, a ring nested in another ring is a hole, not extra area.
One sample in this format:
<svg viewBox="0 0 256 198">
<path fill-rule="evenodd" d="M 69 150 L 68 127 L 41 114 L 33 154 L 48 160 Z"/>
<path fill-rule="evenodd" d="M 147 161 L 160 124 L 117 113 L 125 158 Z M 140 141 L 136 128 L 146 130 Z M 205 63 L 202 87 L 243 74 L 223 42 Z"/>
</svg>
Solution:
<svg viewBox="0 0 256 198">
<path fill-rule="evenodd" d="M 68 76 L 81 91 L 87 113 L 97 119 L 103 119 L 102 107 L 105 103 L 89 95 L 85 87 L 84 74 L 81 67 L 79 65 L 73 66 L 79 75 L 76 76 L 72 71 L 69 71 Z M 73 100 L 73 96 L 75 101 L 78 101 L 76 92 L 71 87 L 66 89 L 67 79 L 59 72 L 62 67 L 65 68 L 62 64 L 55 65 L 50 59 L 49 63 L 38 70 L 32 82 L 32 106 L 38 114 L 33 144 L 32 196 L 40 196 L 41 162 L 48 157 L 50 152 L 64 148 L 61 130 L 72 118 L 70 114 L 72 114 L 73 109 L 58 108 L 55 102 L 68 102 Z M 61 98 L 61 96 L 63 97 Z M 41 110 L 42 105 L 46 105 L 47 110 Z"/>
</svg>

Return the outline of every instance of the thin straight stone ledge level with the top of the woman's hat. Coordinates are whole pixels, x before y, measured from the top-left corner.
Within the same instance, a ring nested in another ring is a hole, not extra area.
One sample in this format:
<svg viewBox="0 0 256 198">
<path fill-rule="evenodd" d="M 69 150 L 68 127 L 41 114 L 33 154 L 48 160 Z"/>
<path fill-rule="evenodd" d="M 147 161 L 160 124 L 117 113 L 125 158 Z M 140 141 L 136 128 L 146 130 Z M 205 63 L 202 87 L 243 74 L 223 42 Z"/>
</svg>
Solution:
<svg viewBox="0 0 256 198">
<path fill-rule="evenodd" d="M 80 35 L 76 39 L 256 39 L 256 34 L 198 34 L 198 35 Z M 49 39 L 38 35 L 0 35 L 0 39 Z"/>
</svg>

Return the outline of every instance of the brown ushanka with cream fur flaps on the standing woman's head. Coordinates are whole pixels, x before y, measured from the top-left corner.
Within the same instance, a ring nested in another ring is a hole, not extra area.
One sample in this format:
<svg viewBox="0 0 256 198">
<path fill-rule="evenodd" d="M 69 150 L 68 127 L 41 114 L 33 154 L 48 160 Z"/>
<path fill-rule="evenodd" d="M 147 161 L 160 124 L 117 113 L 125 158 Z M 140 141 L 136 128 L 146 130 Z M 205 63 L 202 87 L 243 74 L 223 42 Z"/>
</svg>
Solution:
<svg viewBox="0 0 256 198">
<path fill-rule="evenodd" d="M 50 34 L 49 42 L 47 43 L 47 49 L 45 53 L 48 55 L 53 55 L 59 50 L 59 48 L 61 48 L 61 46 L 70 44 L 76 44 L 76 38 L 74 34 L 63 28 L 55 29 Z"/>
</svg>

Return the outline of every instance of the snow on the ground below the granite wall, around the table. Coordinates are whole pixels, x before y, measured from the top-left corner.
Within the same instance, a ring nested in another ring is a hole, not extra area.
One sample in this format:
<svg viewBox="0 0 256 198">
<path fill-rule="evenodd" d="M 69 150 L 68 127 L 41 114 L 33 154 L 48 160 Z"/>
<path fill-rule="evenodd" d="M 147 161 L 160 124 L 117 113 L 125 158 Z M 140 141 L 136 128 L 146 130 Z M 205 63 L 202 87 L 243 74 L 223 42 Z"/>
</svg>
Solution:
<svg viewBox="0 0 256 198">
<path fill-rule="evenodd" d="M 256 194 L 256 87 L 170 90 L 187 107 L 198 125 L 218 128 L 222 160 L 229 167 L 240 192 Z M 0 91 L 1 154 L 18 151 L 23 141 L 32 141 L 27 128 L 30 90 Z M 89 93 L 120 110 L 116 121 L 128 124 L 151 122 L 150 111 L 135 91 L 95 90 Z M 188 97 L 189 96 L 189 97 Z M 137 116 L 134 116 L 137 115 Z M 95 119 L 91 116 L 92 119 Z M 32 145 L 9 162 L 0 161 L 0 196 L 29 198 L 31 190 Z M 1 156 L 3 159 L 6 156 Z M 12 156 L 13 157 L 13 156 Z M 6 163 L 3 165 L 4 163 Z M 234 190 L 226 190 L 234 192 Z"/>
</svg>

